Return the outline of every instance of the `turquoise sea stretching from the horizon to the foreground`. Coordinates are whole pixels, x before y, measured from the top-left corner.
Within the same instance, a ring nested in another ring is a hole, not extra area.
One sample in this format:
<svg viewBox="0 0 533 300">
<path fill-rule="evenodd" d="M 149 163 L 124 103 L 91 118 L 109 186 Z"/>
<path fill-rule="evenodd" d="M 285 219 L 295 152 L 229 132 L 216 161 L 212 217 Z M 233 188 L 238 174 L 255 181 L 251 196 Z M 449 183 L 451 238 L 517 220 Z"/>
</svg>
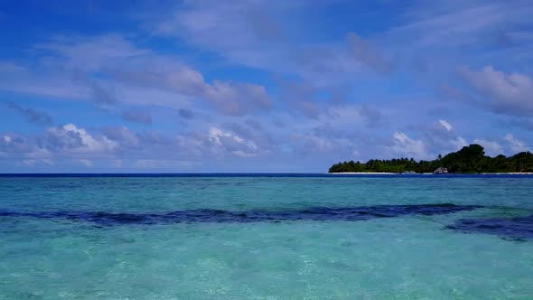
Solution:
<svg viewBox="0 0 533 300">
<path fill-rule="evenodd" d="M 453 227 L 528 217 L 531 195 L 531 176 L 0 177 L 0 299 L 532 299 L 528 221 Z"/>
</svg>

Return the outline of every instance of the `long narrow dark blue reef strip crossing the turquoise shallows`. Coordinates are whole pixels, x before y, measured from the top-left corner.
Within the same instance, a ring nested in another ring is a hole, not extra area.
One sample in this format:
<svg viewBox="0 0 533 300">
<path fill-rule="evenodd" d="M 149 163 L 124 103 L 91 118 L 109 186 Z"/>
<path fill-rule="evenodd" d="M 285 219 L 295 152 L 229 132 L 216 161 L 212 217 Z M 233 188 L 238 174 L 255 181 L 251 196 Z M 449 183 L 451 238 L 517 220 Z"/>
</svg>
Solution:
<svg viewBox="0 0 533 300">
<path fill-rule="evenodd" d="M 481 206 L 444 204 L 377 205 L 351 208 L 314 207 L 295 211 L 221 211 L 187 210 L 167 213 L 113 213 L 105 211 L 9 212 L 0 217 L 33 217 L 42 219 L 85 220 L 98 225 L 171 224 L 171 223 L 246 223 L 286 220 L 372 220 L 406 215 L 435 215 L 471 211 Z"/>
</svg>

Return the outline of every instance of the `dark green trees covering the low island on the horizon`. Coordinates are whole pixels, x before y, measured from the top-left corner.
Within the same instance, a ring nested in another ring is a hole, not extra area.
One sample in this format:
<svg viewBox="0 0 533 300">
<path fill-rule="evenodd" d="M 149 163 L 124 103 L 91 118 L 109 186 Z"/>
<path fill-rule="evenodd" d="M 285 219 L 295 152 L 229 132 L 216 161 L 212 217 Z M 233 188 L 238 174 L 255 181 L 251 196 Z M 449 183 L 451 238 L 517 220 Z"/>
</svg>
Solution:
<svg viewBox="0 0 533 300">
<path fill-rule="evenodd" d="M 481 145 L 464 146 L 463 149 L 445 155 L 439 155 L 434 161 L 416 162 L 413 158 L 390 160 L 371 159 L 366 164 L 360 162 L 344 162 L 333 164 L 329 173 L 342 172 L 405 172 L 431 173 L 438 167 L 445 167 L 449 173 L 510 173 L 533 172 L 533 154 L 521 152 L 518 155 L 505 157 L 485 155 Z"/>
</svg>

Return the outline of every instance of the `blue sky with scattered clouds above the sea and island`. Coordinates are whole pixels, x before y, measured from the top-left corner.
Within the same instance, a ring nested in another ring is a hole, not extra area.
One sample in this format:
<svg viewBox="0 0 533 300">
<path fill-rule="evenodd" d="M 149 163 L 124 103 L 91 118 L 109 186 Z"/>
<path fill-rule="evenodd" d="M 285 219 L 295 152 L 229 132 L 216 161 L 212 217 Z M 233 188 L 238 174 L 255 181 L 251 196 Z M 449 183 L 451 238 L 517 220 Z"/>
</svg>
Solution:
<svg viewBox="0 0 533 300">
<path fill-rule="evenodd" d="M 533 2 L 0 0 L 0 173 L 533 147 Z"/>
</svg>

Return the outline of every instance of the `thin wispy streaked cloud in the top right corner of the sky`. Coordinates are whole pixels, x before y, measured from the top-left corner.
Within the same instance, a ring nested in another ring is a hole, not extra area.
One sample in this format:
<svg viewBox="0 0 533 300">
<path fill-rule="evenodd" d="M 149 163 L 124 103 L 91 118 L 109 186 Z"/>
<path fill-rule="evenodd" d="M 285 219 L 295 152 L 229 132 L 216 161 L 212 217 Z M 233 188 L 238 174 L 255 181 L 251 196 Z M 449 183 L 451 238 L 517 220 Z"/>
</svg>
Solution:
<svg viewBox="0 0 533 300">
<path fill-rule="evenodd" d="M 448 49 L 505 32 L 519 32 L 530 24 L 533 7 L 528 1 L 422 1 L 407 7 L 406 23 L 388 34 L 390 39 L 406 39 L 409 49 L 438 47 Z M 526 27 L 527 28 L 527 27 Z"/>
</svg>

